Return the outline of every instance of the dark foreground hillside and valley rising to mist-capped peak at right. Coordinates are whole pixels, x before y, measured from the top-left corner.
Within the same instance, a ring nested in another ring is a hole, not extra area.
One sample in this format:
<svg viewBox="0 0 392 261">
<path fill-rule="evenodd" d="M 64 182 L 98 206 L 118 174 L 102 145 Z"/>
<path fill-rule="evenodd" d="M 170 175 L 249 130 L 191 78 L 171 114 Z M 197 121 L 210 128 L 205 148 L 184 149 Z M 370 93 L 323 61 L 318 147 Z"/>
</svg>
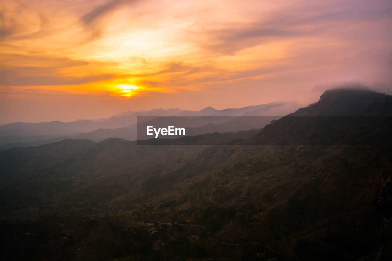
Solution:
<svg viewBox="0 0 392 261">
<path fill-rule="evenodd" d="M 1 256 L 388 260 L 391 112 L 392 96 L 334 89 L 251 132 L 3 150 Z"/>
</svg>

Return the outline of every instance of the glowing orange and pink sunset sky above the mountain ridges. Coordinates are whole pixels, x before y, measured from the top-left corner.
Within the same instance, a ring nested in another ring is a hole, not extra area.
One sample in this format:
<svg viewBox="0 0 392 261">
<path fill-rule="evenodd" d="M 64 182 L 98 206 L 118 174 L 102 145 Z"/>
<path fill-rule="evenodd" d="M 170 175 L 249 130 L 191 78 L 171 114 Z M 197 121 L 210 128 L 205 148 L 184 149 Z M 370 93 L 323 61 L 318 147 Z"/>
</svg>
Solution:
<svg viewBox="0 0 392 261">
<path fill-rule="evenodd" d="M 392 94 L 388 0 L 2 0 L 0 124 Z"/>
</svg>

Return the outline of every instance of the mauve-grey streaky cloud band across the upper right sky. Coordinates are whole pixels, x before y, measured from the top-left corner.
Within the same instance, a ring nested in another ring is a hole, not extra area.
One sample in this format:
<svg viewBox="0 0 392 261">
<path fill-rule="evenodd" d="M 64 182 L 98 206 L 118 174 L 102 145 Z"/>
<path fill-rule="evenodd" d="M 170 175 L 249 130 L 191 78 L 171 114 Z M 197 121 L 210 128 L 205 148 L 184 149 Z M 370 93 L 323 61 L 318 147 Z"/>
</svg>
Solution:
<svg viewBox="0 0 392 261">
<path fill-rule="evenodd" d="M 285 39 L 322 36 L 336 40 L 365 40 L 364 29 L 374 27 L 376 23 L 384 27 L 377 28 L 377 31 L 387 29 L 385 22 L 390 22 L 392 12 L 392 5 L 385 1 L 377 1 L 375 5 L 369 5 L 368 1 L 299 3 L 289 4 L 247 22 L 222 22 L 218 28 L 204 24 L 195 26 L 188 33 L 195 38 L 201 35 L 202 40 L 198 44 L 212 55 L 234 55 L 245 48 Z"/>
</svg>

